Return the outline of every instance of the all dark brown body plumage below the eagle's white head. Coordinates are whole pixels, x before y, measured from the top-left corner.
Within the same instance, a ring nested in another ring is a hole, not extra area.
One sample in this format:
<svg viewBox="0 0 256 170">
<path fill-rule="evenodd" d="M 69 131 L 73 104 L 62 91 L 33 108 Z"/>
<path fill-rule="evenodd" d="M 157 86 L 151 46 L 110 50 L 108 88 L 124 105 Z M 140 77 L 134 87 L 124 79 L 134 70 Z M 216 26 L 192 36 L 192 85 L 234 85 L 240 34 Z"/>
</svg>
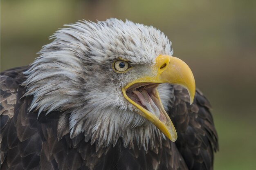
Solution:
<svg viewBox="0 0 256 170">
<path fill-rule="evenodd" d="M 96 148 L 83 135 L 58 138 L 62 113 L 28 113 L 32 97 L 22 74 L 27 67 L 1 73 L 1 170 L 212 170 L 218 137 L 207 99 L 197 91 L 195 101 L 180 86 L 172 86 L 169 115 L 177 130 L 175 143 L 162 140 L 154 150 L 115 147 Z M 160 147 L 161 146 L 161 147 Z M 96 152 L 97 149 L 97 152 Z"/>
</svg>

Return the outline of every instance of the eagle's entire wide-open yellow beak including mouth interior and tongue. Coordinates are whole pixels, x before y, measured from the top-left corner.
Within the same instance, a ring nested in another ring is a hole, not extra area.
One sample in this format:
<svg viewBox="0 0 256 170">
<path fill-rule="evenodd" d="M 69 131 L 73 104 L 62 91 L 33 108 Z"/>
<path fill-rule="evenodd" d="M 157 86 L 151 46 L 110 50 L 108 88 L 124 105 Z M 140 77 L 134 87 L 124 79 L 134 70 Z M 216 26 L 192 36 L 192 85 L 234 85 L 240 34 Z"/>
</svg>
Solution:
<svg viewBox="0 0 256 170">
<path fill-rule="evenodd" d="M 157 92 L 161 83 L 179 84 L 185 87 L 192 104 L 195 96 L 195 79 L 189 66 L 182 60 L 159 55 L 148 73 L 142 74 L 121 88 L 124 98 L 134 111 L 154 124 L 168 139 L 175 141 L 177 132 Z"/>
</svg>

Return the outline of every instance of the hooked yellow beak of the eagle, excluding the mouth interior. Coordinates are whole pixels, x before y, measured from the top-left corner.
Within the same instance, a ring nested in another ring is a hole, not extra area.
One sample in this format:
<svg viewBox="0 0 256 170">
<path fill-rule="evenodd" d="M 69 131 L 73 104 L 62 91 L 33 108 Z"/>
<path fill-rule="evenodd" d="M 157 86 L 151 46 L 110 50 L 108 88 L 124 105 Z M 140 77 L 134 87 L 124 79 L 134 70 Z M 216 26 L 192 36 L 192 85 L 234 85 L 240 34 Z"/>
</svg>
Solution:
<svg viewBox="0 0 256 170">
<path fill-rule="evenodd" d="M 154 97 L 155 103 L 157 104 L 160 112 L 166 117 L 165 121 L 161 121 L 156 117 L 155 114 L 148 111 L 146 108 L 137 104 L 135 101 L 130 99 L 126 94 L 127 89 L 138 83 L 169 83 L 169 84 L 179 84 L 187 89 L 190 96 L 190 104 L 192 104 L 195 96 L 195 79 L 193 73 L 189 66 L 182 60 L 168 56 L 168 55 L 159 55 L 156 57 L 156 64 L 151 69 L 152 76 L 143 76 L 139 79 L 136 79 L 122 88 L 124 97 L 138 108 L 138 113 L 151 121 L 159 130 L 161 130 L 168 139 L 175 141 L 177 139 L 177 132 L 173 126 L 173 123 L 164 110 L 164 106 L 159 98 L 157 90 L 155 88 Z"/>
</svg>

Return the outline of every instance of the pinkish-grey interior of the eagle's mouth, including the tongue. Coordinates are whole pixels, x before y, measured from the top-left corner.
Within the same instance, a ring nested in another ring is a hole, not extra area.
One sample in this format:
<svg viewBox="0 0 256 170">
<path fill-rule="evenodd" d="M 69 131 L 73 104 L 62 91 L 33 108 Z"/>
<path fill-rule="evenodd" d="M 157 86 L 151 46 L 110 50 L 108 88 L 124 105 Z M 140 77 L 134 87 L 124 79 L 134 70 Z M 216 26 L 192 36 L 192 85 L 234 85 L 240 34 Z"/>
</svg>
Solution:
<svg viewBox="0 0 256 170">
<path fill-rule="evenodd" d="M 127 88 L 126 95 L 165 124 L 166 112 L 157 93 L 157 86 L 158 83 L 136 83 Z"/>
</svg>

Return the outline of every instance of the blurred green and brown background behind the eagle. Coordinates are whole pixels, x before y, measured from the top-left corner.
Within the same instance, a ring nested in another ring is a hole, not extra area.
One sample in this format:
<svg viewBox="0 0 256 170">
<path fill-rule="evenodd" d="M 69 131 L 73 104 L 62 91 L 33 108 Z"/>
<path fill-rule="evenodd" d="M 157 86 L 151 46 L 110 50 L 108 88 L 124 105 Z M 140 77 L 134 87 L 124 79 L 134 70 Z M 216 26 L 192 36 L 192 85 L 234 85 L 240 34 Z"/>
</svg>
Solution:
<svg viewBox="0 0 256 170">
<path fill-rule="evenodd" d="M 213 106 L 215 170 L 255 170 L 255 0 L 1 0 L 1 71 L 31 63 L 63 24 L 111 17 L 162 30 L 191 67 Z"/>
</svg>

